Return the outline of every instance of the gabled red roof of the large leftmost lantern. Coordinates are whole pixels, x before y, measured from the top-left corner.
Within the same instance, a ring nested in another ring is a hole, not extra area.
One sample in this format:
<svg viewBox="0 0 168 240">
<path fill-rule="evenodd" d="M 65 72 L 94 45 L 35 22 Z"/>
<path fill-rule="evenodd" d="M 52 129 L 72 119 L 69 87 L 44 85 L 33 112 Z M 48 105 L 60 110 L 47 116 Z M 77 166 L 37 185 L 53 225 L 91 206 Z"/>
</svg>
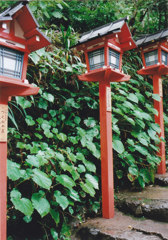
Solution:
<svg viewBox="0 0 168 240">
<path fill-rule="evenodd" d="M 28 3 L 29 0 L 19 1 L 19 3 L 0 13 L 0 23 L 8 23 L 16 20 L 18 25 L 20 25 L 19 29 L 23 32 L 22 38 L 28 42 L 30 52 L 33 52 L 48 46 L 50 40 L 39 30 L 39 25 L 27 5 Z"/>
</svg>

